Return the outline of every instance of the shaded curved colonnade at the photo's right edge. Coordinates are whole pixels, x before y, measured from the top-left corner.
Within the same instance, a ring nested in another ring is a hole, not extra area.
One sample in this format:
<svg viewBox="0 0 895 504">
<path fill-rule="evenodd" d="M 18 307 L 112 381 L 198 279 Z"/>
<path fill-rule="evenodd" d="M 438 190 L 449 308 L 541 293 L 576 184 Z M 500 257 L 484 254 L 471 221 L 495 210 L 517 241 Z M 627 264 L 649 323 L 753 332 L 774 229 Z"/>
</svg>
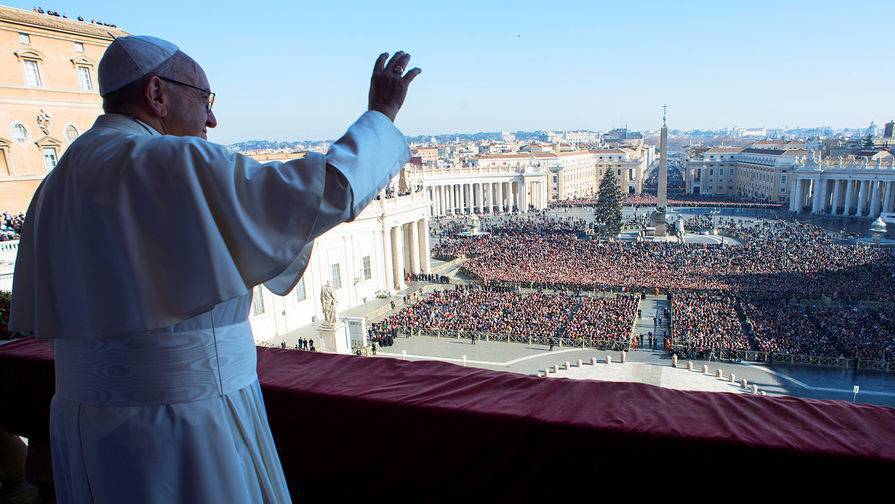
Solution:
<svg viewBox="0 0 895 504">
<path fill-rule="evenodd" d="M 895 210 L 895 181 L 852 178 L 796 179 L 789 197 L 789 211 L 875 219 Z"/>
</svg>

